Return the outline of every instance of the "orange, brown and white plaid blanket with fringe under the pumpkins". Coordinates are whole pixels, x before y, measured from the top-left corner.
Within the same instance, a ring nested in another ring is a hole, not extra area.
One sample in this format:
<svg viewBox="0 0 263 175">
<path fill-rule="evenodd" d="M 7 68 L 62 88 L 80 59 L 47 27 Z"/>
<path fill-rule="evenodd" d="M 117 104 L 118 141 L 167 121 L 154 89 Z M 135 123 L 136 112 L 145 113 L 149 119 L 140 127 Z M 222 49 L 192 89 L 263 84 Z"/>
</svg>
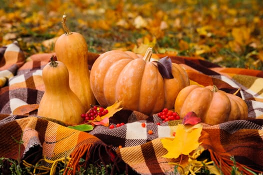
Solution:
<svg viewBox="0 0 263 175">
<path fill-rule="evenodd" d="M 14 115 L 13 111 L 19 106 L 39 103 L 44 91 L 42 68 L 52 54 L 39 53 L 25 58 L 16 42 L 0 48 L 0 157 L 18 158 L 31 164 L 44 158 L 50 167 L 51 161 L 54 163 L 66 156 L 69 160 L 65 173 L 69 174 L 80 168 L 80 158 L 86 160 L 82 164 L 84 167 L 100 160 L 113 164 L 112 172 L 126 170 L 129 174 L 174 172 L 174 164 L 170 162 L 187 166 L 186 155 L 179 159 L 162 157 L 167 150 L 160 139 L 169 137 L 172 127 L 181 120 L 156 125 L 160 121 L 156 114 L 147 116 L 137 111 L 120 110 L 110 118 L 110 123 L 124 122 L 123 126 L 109 129 L 97 125 L 87 133 L 68 128 L 67 123 L 36 116 L 37 109 Z M 90 53 L 89 56 L 93 61 L 98 54 Z M 245 174 L 249 169 L 262 172 L 263 71 L 224 68 L 192 57 L 170 55 L 170 58 L 185 68 L 192 84 L 215 84 L 229 93 L 240 88 L 236 95 L 248 106 L 248 120 L 213 126 L 202 123 L 199 141 L 203 149 L 199 157 L 214 161 L 214 166 L 221 167 L 225 174 L 231 171 L 231 156 Z M 88 62 L 90 66 L 92 61 Z M 146 127 L 141 127 L 141 122 L 145 122 Z M 153 134 L 148 134 L 148 129 Z M 22 140 L 22 143 L 15 140 Z"/>
</svg>

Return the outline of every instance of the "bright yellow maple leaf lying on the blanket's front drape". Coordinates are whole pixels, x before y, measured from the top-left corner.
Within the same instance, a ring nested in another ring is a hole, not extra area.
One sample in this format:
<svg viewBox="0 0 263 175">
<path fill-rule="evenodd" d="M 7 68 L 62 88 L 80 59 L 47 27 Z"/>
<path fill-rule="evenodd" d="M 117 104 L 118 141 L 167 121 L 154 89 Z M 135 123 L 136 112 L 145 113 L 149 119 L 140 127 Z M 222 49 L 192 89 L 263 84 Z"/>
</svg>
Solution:
<svg viewBox="0 0 263 175">
<path fill-rule="evenodd" d="M 197 128 L 185 129 L 183 124 L 178 124 L 174 139 L 161 139 L 163 147 L 168 151 L 163 157 L 177 158 L 180 154 L 188 155 L 199 146 L 198 138 L 201 130 L 201 125 Z"/>
</svg>

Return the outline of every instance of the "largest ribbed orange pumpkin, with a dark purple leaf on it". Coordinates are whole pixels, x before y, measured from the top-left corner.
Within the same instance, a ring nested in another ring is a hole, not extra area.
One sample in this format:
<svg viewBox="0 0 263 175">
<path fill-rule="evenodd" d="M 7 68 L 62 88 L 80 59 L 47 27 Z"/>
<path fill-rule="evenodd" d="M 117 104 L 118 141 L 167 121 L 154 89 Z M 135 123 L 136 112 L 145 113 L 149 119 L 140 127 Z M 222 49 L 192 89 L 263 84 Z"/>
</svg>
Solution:
<svg viewBox="0 0 263 175">
<path fill-rule="evenodd" d="M 150 61 L 151 48 L 144 57 L 131 51 L 111 50 L 101 54 L 90 71 L 90 87 L 102 106 L 122 101 L 125 109 L 152 114 L 162 108 L 173 108 L 175 98 L 189 85 L 185 70 L 171 63 L 173 78 L 163 78 L 155 62 Z"/>
</svg>

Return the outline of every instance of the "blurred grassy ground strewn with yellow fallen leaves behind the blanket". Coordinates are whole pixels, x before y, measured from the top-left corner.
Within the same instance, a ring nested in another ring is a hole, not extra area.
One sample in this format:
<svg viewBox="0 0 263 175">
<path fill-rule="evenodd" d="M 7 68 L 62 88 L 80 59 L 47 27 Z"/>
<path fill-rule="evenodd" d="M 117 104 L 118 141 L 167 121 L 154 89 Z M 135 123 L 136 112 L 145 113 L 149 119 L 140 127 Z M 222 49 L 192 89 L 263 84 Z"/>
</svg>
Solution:
<svg viewBox="0 0 263 175">
<path fill-rule="evenodd" d="M 89 51 L 111 49 L 195 56 L 263 70 L 262 0 L 0 0 L 0 46 L 17 40 L 27 56 L 52 52 L 64 31 Z"/>
</svg>

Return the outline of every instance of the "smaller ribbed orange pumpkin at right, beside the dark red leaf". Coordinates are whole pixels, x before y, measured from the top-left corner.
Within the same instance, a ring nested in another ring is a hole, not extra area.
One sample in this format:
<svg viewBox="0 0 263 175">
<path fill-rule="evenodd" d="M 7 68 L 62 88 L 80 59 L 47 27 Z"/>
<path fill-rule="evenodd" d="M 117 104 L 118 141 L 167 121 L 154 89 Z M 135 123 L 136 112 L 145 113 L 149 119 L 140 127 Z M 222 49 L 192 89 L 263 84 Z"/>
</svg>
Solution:
<svg viewBox="0 0 263 175">
<path fill-rule="evenodd" d="M 177 95 L 174 110 L 181 118 L 193 111 L 202 122 L 211 125 L 248 117 L 247 105 L 242 98 L 211 85 L 184 87 Z"/>
</svg>

